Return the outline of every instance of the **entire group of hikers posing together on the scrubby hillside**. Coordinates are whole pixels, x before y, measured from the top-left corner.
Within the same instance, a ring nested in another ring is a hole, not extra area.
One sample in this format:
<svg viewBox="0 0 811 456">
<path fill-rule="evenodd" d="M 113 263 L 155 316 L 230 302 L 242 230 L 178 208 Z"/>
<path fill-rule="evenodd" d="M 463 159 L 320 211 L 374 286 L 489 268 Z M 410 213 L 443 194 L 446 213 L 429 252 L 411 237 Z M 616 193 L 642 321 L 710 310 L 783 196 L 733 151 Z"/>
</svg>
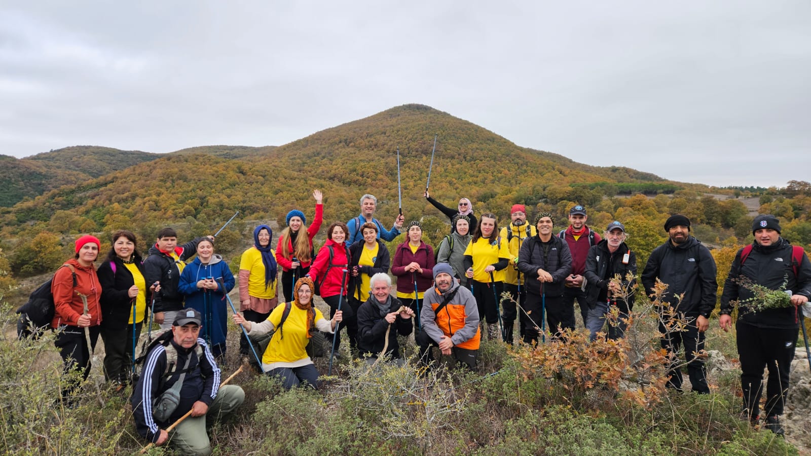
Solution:
<svg viewBox="0 0 811 456">
<path fill-rule="evenodd" d="M 255 368 L 277 376 L 285 388 L 320 387 L 312 360 L 323 351 L 318 341 L 326 334 L 337 355 L 344 328 L 352 356 L 369 364 L 405 364 L 397 336 L 414 333 L 417 363 L 428 367 L 436 346 L 452 364 L 475 368 L 482 338 L 512 344 L 516 321 L 522 342 L 565 341 L 566 331 L 576 327 L 575 301 L 590 340 L 624 336 L 637 260 L 622 222 L 596 233 L 586 225 L 586 208 L 576 205 L 569 211 L 569 225 L 556 232 L 551 213 L 537 214 L 530 225 L 525 206 L 514 204 L 508 226 L 500 229 L 494 213 L 477 219 L 467 198 L 454 210 L 427 190 L 424 196 L 451 221 L 451 232 L 436 253 L 415 220 L 390 258 L 384 242 L 401 234 L 405 218 L 398 215 L 386 230 L 374 217 L 377 200 L 368 194 L 360 199 L 358 217 L 328 226 L 317 255 L 313 238 L 324 213 L 320 191 L 313 192 L 311 225 L 302 211 L 290 211 L 275 249 L 270 226 L 256 226 L 254 245 L 242 253 L 238 269 L 238 309 L 229 296 L 237 281 L 214 253 L 214 236 L 178 246 L 177 233 L 164 228 L 142 260 L 135 235 L 119 230 L 97 271 L 101 243 L 84 235 L 75 241 L 75 258 L 57 270 L 50 286 L 54 316 L 49 327 L 58 329 L 55 344 L 66 371 L 78 369 L 87 378 L 101 333 L 105 379 L 122 388 L 136 371 L 135 342 L 144 326 L 152 332 L 154 320 L 161 331 L 149 338 L 138 360 L 143 367 L 131 398 L 136 428 L 156 445 L 169 441 L 184 452 L 208 454 L 206 418 L 224 416 L 244 399 L 240 387 L 220 385 L 218 364 L 227 348 L 229 314 L 241 327 L 239 354 L 255 359 Z M 650 255 L 641 282 L 646 296 L 654 294 L 657 281 L 667 285 L 659 325 L 662 346 L 672 354 L 667 386 L 682 389 L 677 353 L 684 346 L 690 386 L 707 394 L 706 369 L 697 354 L 715 308 L 716 266 L 709 250 L 690 234 L 687 217 L 669 217 L 664 229 L 668 239 Z M 791 306 L 757 312 L 741 308 L 736 321 L 742 416 L 757 423 L 763 369 L 768 368 L 766 428 L 782 434 L 779 415 L 802 318 L 797 308 L 811 296 L 811 263 L 780 237 L 776 217 L 756 217 L 752 231 L 753 243 L 736 253 L 724 284 L 719 324 L 731 329 L 735 303 L 752 302 L 744 277 L 769 290 L 792 290 Z M 324 299 L 329 316 L 315 308 L 313 295 Z M 668 312 L 684 325 L 674 327 L 665 318 Z M 67 404 L 75 400 L 78 385 L 75 381 L 63 390 Z"/>
</svg>

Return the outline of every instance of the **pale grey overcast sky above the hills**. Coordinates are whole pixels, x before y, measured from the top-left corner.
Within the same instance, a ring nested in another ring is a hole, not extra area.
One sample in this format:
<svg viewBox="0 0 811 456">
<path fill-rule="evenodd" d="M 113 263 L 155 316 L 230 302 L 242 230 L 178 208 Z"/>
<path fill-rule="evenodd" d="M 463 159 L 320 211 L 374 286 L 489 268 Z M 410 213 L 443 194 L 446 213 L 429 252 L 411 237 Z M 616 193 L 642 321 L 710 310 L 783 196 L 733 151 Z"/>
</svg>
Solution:
<svg viewBox="0 0 811 456">
<path fill-rule="evenodd" d="M 420 103 L 590 165 L 784 186 L 811 180 L 809 81 L 808 0 L 0 0 L 15 157 L 282 145 Z"/>
</svg>

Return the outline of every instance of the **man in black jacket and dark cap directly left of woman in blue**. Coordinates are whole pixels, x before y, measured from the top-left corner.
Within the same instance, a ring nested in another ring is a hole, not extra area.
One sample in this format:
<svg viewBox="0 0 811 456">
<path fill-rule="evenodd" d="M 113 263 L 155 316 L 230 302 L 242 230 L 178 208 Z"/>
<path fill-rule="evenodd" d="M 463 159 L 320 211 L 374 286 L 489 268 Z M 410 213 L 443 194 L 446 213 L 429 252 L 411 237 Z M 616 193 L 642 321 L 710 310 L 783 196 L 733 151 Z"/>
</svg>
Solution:
<svg viewBox="0 0 811 456">
<path fill-rule="evenodd" d="M 183 295 L 178 291 L 180 273 L 186 267 L 186 260 L 197 253 L 197 238 L 178 247 L 178 233 L 171 228 L 157 232 L 155 245 L 149 247 L 147 259 L 144 260 L 144 278 L 147 286 L 159 282 L 161 291 L 153 295 L 155 299 L 155 322 L 162 329 L 172 327 L 172 321 L 183 308 Z M 214 240 L 214 236 L 208 236 Z"/>
</svg>

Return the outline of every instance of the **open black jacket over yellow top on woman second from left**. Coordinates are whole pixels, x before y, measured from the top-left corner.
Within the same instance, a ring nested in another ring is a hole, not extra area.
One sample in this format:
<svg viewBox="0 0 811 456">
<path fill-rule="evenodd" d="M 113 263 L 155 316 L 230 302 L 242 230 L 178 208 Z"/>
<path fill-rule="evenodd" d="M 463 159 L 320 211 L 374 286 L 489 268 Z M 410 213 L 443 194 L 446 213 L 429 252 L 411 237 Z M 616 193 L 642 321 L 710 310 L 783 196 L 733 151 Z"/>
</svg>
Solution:
<svg viewBox="0 0 811 456">
<path fill-rule="evenodd" d="M 141 265 L 141 257 L 135 256 L 135 265 L 138 265 L 138 270 L 144 274 L 144 266 Z M 115 264 L 115 273 L 110 266 L 109 261 L 105 261 L 99 266 L 97 275 L 99 276 L 99 283 L 101 284 L 101 327 L 106 329 L 125 329 L 132 317 L 132 305 L 129 295 L 130 287 L 135 285 L 132 278 L 132 273 L 124 262 L 117 257 L 113 260 Z M 149 304 L 152 300 L 152 295 L 147 286 L 147 310 L 144 312 L 144 318 L 148 315 Z"/>
</svg>

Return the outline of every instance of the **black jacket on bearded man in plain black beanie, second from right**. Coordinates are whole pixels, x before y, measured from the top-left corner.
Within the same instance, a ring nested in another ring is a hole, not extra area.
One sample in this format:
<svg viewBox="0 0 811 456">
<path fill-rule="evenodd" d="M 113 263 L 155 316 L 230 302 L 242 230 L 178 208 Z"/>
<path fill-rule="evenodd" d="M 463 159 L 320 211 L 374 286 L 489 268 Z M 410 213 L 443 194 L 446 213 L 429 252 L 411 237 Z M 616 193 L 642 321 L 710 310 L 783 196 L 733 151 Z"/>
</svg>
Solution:
<svg viewBox="0 0 811 456">
<path fill-rule="evenodd" d="M 642 286 L 650 296 L 658 277 L 667 284 L 664 300 L 671 306 L 678 303 L 677 312 L 709 318 L 718 295 L 715 273 L 715 260 L 701 241 L 689 236 L 684 243 L 675 246 L 667 239 L 650 254 L 642 271 Z M 678 296 L 682 293 L 684 298 L 679 302 Z"/>
</svg>

